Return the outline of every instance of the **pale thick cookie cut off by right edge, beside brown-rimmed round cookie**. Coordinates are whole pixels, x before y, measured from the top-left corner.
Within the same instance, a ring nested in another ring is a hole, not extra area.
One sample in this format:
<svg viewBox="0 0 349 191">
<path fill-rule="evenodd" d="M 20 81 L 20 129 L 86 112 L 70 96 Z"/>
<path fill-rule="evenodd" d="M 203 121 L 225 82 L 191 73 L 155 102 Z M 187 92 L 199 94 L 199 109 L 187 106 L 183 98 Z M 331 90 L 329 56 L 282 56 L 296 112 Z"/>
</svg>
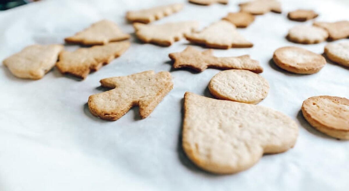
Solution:
<svg viewBox="0 0 349 191">
<path fill-rule="evenodd" d="M 327 44 L 325 54 L 331 61 L 349 67 L 349 41 Z"/>
</svg>

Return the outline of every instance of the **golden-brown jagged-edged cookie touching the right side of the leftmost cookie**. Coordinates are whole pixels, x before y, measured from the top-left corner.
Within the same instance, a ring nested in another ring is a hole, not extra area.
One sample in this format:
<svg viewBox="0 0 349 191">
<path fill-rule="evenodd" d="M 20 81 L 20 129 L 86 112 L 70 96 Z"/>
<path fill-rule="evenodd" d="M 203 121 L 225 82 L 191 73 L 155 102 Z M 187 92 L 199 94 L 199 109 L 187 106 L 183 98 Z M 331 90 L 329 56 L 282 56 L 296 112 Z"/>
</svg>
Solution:
<svg viewBox="0 0 349 191">
<path fill-rule="evenodd" d="M 74 52 L 62 51 L 56 66 L 62 74 L 72 74 L 84 79 L 91 71 L 97 71 L 114 58 L 119 57 L 129 46 L 129 42 L 122 41 L 79 48 Z"/>
</svg>

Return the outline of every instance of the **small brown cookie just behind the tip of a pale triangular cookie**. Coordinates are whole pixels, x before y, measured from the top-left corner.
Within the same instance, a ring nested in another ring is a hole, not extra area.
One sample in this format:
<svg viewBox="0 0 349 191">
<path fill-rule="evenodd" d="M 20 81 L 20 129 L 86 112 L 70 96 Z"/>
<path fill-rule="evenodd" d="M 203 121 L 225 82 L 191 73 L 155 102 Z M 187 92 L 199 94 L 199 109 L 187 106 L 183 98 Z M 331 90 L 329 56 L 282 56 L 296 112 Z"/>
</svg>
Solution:
<svg viewBox="0 0 349 191">
<path fill-rule="evenodd" d="M 254 21 L 254 16 L 250 13 L 237 12 L 228 13 L 228 15 L 222 19 L 233 23 L 237 28 L 246 28 Z"/>
</svg>

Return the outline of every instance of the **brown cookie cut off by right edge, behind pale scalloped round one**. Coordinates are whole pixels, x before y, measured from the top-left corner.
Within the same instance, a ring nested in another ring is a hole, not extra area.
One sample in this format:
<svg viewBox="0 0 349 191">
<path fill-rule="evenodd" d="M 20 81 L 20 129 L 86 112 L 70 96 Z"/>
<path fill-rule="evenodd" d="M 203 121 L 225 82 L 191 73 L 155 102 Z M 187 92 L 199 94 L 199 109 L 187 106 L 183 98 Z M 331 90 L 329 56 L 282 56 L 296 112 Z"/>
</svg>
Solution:
<svg viewBox="0 0 349 191">
<path fill-rule="evenodd" d="M 314 22 L 313 25 L 326 29 L 331 40 L 338 40 L 349 37 L 349 21 L 337 21 L 333 23 Z"/>
</svg>

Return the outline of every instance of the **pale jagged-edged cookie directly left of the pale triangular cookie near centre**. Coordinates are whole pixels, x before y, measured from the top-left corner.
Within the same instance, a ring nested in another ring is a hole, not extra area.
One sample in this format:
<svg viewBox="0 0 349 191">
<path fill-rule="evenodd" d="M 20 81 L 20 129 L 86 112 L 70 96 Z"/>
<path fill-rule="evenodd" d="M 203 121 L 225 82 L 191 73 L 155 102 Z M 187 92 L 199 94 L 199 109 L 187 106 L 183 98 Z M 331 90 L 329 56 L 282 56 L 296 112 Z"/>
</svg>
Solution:
<svg viewBox="0 0 349 191">
<path fill-rule="evenodd" d="M 191 33 L 198 28 L 196 21 L 182 21 L 165 24 L 134 23 L 136 36 L 144 43 L 154 43 L 161 46 L 170 46 L 174 41 L 180 40 L 183 35 Z"/>
</svg>

